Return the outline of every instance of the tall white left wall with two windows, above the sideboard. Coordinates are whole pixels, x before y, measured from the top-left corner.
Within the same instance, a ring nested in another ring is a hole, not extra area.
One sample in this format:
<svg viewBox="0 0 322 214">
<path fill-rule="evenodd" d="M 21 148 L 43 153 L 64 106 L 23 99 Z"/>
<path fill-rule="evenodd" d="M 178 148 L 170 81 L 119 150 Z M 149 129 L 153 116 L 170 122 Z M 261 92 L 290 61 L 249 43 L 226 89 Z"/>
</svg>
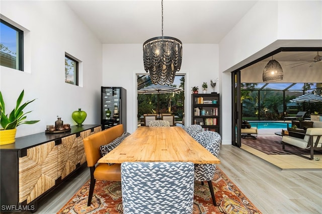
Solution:
<svg viewBox="0 0 322 214">
<path fill-rule="evenodd" d="M 88 114 L 84 124 L 100 124 L 102 44 L 91 31 L 60 1 L 1 1 L 1 15 L 29 31 L 25 33 L 25 72 L 0 67 L 7 113 L 22 89 L 23 101 L 37 98 L 26 111 L 33 111 L 28 120 L 40 122 L 19 126 L 17 137 L 44 132 L 56 116 L 76 125 L 71 113 L 78 108 Z M 64 82 L 65 52 L 82 61 L 81 87 Z"/>
</svg>

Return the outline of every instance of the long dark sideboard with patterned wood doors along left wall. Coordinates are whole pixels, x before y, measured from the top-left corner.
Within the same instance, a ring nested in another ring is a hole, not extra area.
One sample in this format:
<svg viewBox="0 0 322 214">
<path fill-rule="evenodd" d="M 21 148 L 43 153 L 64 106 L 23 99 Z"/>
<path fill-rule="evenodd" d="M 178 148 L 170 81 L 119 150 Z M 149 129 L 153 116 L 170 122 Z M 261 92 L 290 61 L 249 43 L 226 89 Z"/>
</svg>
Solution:
<svg viewBox="0 0 322 214">
<path fill-rule="evenodd" d="M 101 125 L 72 126 L 66 133 L 38 133 L 0 146 L 2 212 L 37 210 L 37 201 L 86 164 L 83 139 Z"/>
</svg>

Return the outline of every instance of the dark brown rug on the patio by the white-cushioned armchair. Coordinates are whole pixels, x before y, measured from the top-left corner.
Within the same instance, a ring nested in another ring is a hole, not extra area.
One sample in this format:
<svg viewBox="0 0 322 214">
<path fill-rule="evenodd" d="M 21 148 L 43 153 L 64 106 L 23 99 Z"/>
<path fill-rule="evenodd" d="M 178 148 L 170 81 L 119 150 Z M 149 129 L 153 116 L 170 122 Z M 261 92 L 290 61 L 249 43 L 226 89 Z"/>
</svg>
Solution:
<svg viewBox="0 0 322 214">
<path fill-rule="evenodd" d="M 292 154 L 292 153 L 283 151 L 282 137 L 280 136 L 257 137 L 257 139 L 245 138 L 245 139 L 241 139 L 241 144 L 250 146 L 268 155 Z M 285 149 L 300 155 L 305 155 L 310 153 L 309 149 L 301 149 L 292 145 L 285 145 Z M 314 153 L 320 154 L 319 151 L 314 151 Z"/>
</svg>

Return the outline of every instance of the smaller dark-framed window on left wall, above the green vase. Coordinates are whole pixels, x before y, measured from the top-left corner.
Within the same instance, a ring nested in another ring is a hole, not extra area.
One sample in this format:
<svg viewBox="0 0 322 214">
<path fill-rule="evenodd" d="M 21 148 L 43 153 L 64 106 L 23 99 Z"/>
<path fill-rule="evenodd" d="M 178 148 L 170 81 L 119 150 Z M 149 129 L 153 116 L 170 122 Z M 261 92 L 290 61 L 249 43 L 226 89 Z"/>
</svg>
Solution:
<svg viewBox="0 0 322 214">
<path fill-rule="evenodd" d="M 65 82 L 78 85 L 78 61 L 65 55 Z"/>
</svg>

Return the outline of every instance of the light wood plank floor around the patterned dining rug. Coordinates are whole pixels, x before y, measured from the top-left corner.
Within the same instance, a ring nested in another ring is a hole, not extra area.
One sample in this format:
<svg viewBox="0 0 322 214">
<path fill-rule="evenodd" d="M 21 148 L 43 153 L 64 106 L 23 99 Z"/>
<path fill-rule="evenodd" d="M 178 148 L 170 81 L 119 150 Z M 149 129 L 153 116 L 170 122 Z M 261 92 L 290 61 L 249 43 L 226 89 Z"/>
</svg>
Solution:
<svg viewBox="0 0 322 214">
<path fill-rule="evenodd" d="M 263 213 L 322 213 L 322 171 L 281 171 L 231 145 L 221 146 L 219 159 L 218 167 Z M 86 168 L 68 179 L 36 213 L 56 213 L 89 178 Z"/>
</svg>

